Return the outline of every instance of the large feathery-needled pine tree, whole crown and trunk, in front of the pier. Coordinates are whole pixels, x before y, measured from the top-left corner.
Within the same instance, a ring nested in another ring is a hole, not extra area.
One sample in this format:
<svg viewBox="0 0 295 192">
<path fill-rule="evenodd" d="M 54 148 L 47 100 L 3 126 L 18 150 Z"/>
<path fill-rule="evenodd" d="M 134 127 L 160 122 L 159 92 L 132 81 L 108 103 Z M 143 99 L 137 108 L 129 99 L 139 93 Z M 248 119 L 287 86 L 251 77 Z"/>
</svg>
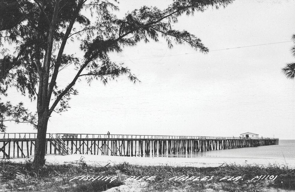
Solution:
<svg viewBox="0 0 295 192">
<path fill-rule="evenodd" d="M 110 52 L 121 52 L 126 46 L 139 41 L 166 39 L 173 43 L 188 44 L 200 52 L 208 52 L 201 40 L 185 30 L 175 30 L 173 23 L 182 14 L 193 15 L 207 8 L 225 7 L 232 0 L 174 0 L 165 9 L 142 6 L 118 18 L 117 0 L 16 0 L 19 16 L 24 17 L 16 26 L 1 32 L 0 46 L 15 44 L 15 54 L 3 49 L 0 60 L 0 92 L 6 95 L 9 87 L 16 88 L 30 99 L 37 99 L 37 112 L 29 112 L 22 103 L 1 103 L 0 128 L 4 121 L 31 123 L 37 128 L 34 165 L 45 163 L 45 138 L 48 119 L 52 112 L 63 112 L 69 107 L 74 88 L 80 78 L 88 83 L 99 79 L 107 83 L 121 75 L 132 82 L 138 81 L 130 69 L 111 61 Z M 91 13 L 86 17 L 83 13 Z M 64 53 L 67 42 L 80 44 L 84 56 Z M 74 64 L 76 75 L 61 89 L 57 85 L 59 71 Z"/>
</svg>

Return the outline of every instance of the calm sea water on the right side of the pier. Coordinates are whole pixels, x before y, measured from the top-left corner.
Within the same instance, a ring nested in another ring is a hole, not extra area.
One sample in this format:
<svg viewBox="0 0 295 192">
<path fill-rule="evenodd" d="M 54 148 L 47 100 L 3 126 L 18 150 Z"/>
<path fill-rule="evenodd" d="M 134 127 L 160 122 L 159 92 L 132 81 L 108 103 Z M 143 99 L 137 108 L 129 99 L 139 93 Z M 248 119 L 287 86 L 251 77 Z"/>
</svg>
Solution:
<svg viewBox="0 0 295 192">
<path fill-rule="evenodd" d="M 165 157 L 230 157 L 230 158 L 295 158 L 295 140 L 279 140 L 279 145 L 245 147 L 238 149 L 212 150 L 183 155 L 163 155 Z M 159 157 L 163 157 L 159 156 Z"/>
</svg>

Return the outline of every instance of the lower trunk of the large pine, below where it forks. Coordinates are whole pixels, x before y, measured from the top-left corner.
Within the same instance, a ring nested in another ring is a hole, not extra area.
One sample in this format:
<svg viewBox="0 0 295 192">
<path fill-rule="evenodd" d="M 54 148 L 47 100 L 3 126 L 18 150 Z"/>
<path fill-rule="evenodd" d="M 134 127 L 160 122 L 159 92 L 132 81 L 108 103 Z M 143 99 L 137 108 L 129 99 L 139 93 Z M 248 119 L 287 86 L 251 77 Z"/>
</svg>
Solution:
<svg viewBox="0 0 295 192">
<path fill-rule="evenodd" d="M 35 154 L 33 164 L 35 166 L 43 166 L 45 164 L 45 143 L 48 118 L 41 118 L 38 122 L 37 139 L 35 143 Z"/>
</svg>

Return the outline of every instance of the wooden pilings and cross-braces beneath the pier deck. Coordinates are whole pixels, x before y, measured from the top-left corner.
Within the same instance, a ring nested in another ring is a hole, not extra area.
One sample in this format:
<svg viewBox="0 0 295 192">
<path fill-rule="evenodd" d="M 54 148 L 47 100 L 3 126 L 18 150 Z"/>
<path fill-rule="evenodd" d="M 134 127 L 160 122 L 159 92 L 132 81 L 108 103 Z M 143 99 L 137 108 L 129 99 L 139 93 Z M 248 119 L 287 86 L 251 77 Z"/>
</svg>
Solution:
<svg viewBox="0 0 295 192">
<path fill-rule="evenodd" d="M 11 134 L 12 135 L 12 134 Z M 225 150 L 242 147 L 256 147 L 266 145 L 277 145 L 278 139 L 234 139 L 234 138 L 220 138 L 220 139 L 166 139 L 164 137 L 156 137 L 157 139 L 147 138 L 66 138 L 64 140 L 65 151 L 72 150 L 73 154 L 93 154 L 98 155 L 113 155 L 113 156 L 166 156 L 170 154 L 190 154 L 196 152 L 205 152 L 210 150 Z M 48 146 L 49 141 L 49 146 Z M 16 139 L 1 139 L 3 142 L 2 148 L 0 148 L 0 156 L 3 153 L 3 158 L 10 158 L 13 153 L 15 158 L 24 158 L 32 155 L 32 148 L 36 140 L 32 138 L 16 138 Z M 11 142 L 13 142 L 13 152 Z M 23 143 L 25 142 L 25 143 Z M 29 148 L 30 142 L 30 148 Z M 109 143 L 111 142 L 111 143 Z M 134 143 L 135 142 L 135 143 Z M 76 143 L 76 144 L 75 144 Z M 79 144 L 78 144 L 79 143 Z M 5 146 L 6 145 L 6 146 Z M 54 149 L 52 149 L 52 146 Z M 86 147 L 86 151 L 85 148 Z M 58 154 L 57 143 L 53 140 L 48 140 L 45 143 L 45 151 L 49 153 Z M 27 150 L 24 153 L 24 150 Z M 30 151 L 29 151 L 30 150 Z M 21 153 L 21 154 L 19 154 Z M 109 154 L 110 153 L 110 154 Z"/>
</svg>

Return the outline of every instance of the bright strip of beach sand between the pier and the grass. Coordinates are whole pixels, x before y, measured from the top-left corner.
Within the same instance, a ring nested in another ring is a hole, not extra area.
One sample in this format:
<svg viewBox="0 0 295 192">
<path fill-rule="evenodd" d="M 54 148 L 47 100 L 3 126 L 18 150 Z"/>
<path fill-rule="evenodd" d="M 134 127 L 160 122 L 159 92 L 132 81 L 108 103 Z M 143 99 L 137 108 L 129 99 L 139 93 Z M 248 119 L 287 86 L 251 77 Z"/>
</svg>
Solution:
<svg viewBox="0 0 295 192">
<path fill-rule="evenodd" d="M 132 165 L 169 165 L 169 166 L 190 166 L 190 167 L 218 167 L 223 164 L 236 165 L 269 165 L 276 164 L 278 166 L 287 165 L 289 168 L 295 167 L 295 159 L 275 159 L 275 158 L 223 158 L 223 157 L 197 157 L 197 158 L 173 158 L 173 157 L 128 157 L 128 156 L 100 156 L 100 155 L 53 155 L 45 156 L 47 163 L 63 164 L 63 163 L 78 163 L 81 157 L 88 165 L 116 165 L 122 162 L 127 162 Z M 32 158 L 27 158 L 33 160 Z M 26 158 L 10 159 L 14 162 L 23 162 Z"/>
</svg>

